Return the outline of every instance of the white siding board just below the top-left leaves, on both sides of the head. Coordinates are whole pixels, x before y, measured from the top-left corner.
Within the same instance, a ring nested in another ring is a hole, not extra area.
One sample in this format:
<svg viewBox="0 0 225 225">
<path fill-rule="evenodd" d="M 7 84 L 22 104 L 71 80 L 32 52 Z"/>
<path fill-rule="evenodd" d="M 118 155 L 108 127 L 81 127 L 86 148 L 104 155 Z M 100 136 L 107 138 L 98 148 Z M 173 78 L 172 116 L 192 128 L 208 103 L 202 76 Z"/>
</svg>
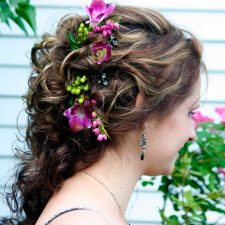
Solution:
<svg viewBox="0 0 225 225">
<path fill-rule="evenodd" d="M 30 49 L 35 42 L 34 38 L 0 38 L 0 63 L 28 65 L 30 62 Z M 16 54 L 15 54 L 16 50 Z M 13 57 L 12 57 L 13 56 Z M 203 59 L 209 70 L 225 70 L 225 42 L 204 44 Z"/>
</svg>

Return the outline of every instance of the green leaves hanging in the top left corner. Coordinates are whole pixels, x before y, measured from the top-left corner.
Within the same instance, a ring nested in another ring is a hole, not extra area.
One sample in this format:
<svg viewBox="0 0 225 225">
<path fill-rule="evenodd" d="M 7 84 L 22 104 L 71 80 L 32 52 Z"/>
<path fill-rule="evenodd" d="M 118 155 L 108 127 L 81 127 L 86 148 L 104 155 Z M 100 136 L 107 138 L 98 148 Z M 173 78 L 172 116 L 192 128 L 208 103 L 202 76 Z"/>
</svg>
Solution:
<svg viewBox="0 0 225 225">
<path fill-rule="evenodd" d="M 36 34 L 36 11 L 30 0 L 0 0 L 0 22 L 10 27 L 9 20 L 14 21 L 28 35 L 25 22 Z"/>
</svg>

